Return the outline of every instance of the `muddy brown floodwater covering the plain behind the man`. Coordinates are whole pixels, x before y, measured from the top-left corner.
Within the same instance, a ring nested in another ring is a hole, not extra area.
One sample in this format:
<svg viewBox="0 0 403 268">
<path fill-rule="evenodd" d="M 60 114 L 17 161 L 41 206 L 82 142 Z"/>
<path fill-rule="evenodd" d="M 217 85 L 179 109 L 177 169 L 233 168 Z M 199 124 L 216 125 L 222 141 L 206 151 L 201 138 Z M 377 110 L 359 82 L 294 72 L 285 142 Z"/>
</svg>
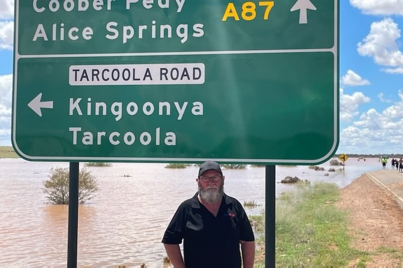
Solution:
<svg viewBox="0 0 403 268">
<path fill-rule="evenodd" d="M 80 163 L 82 167 L 84 163 Z M 89 167 L 99 191 L 79 206 L 78 266 L 162 267 L 166 256 L 161 238 L 178 205 L 196 192 L 198 168 L 165 168 L 163 163 L 112 163 Z M 378 159 L 349 158 L 345 171 L 315 171 L 308 166 L 276 166 L 276 182 L 287 175 L 311 183 L 349 185 L 365 171 L 381 168 Z M 64 162 L 29 162 L 0 159 L 0 266 L 65 267 L 68 245 L 68 206 L 49 204 L 42 192 L 50 168 L 69 167 Z M 388 166 L 390 168 L 390 166 Z M 225 192 L 264 210 L 265 168 L 224 169 Z M 325 173 L 329 173 L 325 176 Z M 293 189 L 276 184 L 276 195 Z"/>
</svg>

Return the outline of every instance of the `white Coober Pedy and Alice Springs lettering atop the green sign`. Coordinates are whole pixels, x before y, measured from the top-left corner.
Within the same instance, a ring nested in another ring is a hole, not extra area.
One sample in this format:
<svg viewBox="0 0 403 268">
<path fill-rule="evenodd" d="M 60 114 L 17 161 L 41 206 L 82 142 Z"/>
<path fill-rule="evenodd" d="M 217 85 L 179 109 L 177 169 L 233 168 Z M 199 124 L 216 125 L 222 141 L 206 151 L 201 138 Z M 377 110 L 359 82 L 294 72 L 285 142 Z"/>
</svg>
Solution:
<svg viewBox="0 0 403 268">
<path fill-rule="evenodd" d="M 106 0 L 106 10 L 110 11 L 113 9 L 113 5 L 115 0 Z M 117 3 L 121 3 L 120 1 L 116 1 Z M 180 13 L 182 11 L 183 5 L 185 4 L 185 0 L 175 0 L 171 1 L 176 4 L 176 12 Z M 77 3 L 77 4 L 76 4 Z M 61 3 L 61 0 L 33 0 L 33 8 L 37 13 L 44 12 L 85 12 L 89 9 L 93 9 L 95 11 L 102 11 L 105 7 L 105 3 L 103 0 L 93 0 L 92 5 L 90 5 L 89 0 L 64 0 Z M 139 4 L 142 4 L 145 9 L 152 9 L 155 6 L 158 6 L 161 9 L 169 9 L 170 8 L 170 0 L 126 0 L 125 1 L 125 9 L 130 10 L 131 8 L 139 8 L 141 7 Z M 173 6 L 173 5 L 172 5 Z M 156 20 L 150 20 L 150 24 L 142 24 L 142 25 L 119 25 L 118 22 L 110 21 L 106 23 L 105 28 L 108 32 L 105 35 L 105 38 L 109 40 L 115 40 L 120 38 L 123 44 L 127 43 L 128 40 L 132 38 L 172 38 L 173 28 L 175 28 L 174 33 L 177 37 L 180 38 L 180 42 L 183 44 L 188 40 L 189 35 L 189 25 L 187 24 L 178 24 L 176 26 L 172 26 L 169 24 L 161 24 L 159 25 Z M 196 23 L 191 26 L 193 33 L 192 37 L 202 37 L 204 36 L 203 24 Z M 62 23 L 53 23 L 51 26 L 47 26 L 44 24 L 38 24 L 36 27 L 36 31 L 34 33 L 32 41 L 43 40 L 49 41 L 51 37 L 52 41 L 64 41 L 65 39 L 70 39 L 72 41 L 76 41 L 79 39 L 91 40 L 94 35 L 94 30 L 90 26 L 73 26 L 68 22 Z"/>
</svg>

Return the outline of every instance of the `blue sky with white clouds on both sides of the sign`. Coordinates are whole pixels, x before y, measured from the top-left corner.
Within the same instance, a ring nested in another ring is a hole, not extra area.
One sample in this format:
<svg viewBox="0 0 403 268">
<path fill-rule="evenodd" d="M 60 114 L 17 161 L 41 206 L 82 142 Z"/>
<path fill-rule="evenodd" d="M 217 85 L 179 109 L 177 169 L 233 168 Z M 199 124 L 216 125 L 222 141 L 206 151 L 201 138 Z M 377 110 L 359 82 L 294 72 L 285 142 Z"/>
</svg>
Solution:
<svg viewBox="0 0 403 268">
<path fill-rule="evenodd" d="M 403 0 L 341 0 L 338 153 L 403 153 L 401 29 Z M 14 0 L 1 0 L 0 145 L 11 145 L 13 34 Z"/>
</svg>

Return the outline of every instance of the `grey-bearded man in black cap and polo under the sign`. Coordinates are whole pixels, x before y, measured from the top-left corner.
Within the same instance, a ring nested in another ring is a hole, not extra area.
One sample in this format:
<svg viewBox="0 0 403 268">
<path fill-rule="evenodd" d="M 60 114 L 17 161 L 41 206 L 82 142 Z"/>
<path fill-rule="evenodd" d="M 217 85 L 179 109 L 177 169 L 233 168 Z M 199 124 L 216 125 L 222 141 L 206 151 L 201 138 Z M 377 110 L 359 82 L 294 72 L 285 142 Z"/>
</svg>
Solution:
<svg viewBox="0 0 403 268">
<path fill-rule="evenodd" d="M 217 162 L 200 165 L 198 192 L 180 204 L 162 239 L 175 268 L 253 267 L 253 230 L 242 205 L 224 193 L 224 179 Z"/>
</svg>

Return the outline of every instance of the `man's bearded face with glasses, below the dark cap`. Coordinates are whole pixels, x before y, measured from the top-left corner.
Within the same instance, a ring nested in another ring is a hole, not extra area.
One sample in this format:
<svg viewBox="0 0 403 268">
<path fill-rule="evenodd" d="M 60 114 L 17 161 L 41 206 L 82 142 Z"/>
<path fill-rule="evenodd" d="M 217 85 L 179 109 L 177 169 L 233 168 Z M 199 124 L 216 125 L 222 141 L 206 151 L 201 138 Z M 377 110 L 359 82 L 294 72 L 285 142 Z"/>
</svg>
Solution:
<svg viewBox="0 0 403 268">
<path fill-rule="evenodd" d="M 207 170 L 197 178 L 198 194 L 207 203 L 217 203 L 224 195 L 224 176 L 217 170 Z"/>
</svg>

